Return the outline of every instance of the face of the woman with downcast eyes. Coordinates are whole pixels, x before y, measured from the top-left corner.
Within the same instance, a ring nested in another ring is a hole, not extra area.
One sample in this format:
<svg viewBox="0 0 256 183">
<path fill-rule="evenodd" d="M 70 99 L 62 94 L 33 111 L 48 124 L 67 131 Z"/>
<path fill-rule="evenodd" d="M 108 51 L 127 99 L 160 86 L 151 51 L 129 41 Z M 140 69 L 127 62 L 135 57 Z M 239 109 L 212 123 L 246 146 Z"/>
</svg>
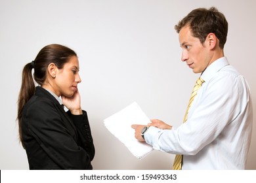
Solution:
<svg viewBox="0 0 256 183">
<path fill-rule="evenodd" d="M 78 72 L 78 59 L 76 56 L 72 56 L 62 69 L 56 69 L 54 93 L 58 96 L 72 97 L 77 91 L 77 84 L 81 82 Z"/>
</svg>

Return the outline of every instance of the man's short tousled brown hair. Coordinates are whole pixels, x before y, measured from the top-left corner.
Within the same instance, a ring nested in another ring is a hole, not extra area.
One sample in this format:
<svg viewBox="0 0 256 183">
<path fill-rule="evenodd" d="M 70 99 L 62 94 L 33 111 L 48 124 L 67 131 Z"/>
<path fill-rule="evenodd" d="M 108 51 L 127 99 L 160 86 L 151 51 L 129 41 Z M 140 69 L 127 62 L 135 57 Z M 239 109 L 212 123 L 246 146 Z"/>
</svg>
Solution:
<svg viewBox="0 0 256 183">
<path fill-rule="evenodd" d="M 190 27 L 192 35 L 200 39 L 202 44 L 209 33 L 214 33 L 219 39 L 219 47 L 224 48 L 228 35 L 228 22 L 224 14 L 219 12 L 217 8 L 211 7 L 209 10 L 197 8 L 192 10 L 179 24 L 175 25 L 175 30 L 179 33 L 187 25 Z"/>
</svg>

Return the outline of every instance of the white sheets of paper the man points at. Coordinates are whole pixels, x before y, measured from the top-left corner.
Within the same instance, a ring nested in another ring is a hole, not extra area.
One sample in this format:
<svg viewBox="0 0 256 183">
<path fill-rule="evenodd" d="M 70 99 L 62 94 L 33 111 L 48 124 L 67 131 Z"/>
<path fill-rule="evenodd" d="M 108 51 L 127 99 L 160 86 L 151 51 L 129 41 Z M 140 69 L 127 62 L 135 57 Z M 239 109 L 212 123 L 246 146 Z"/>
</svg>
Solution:
<svg viewBox="0 0 256 183">
<path fill-rule="evenodd" d="M 135 129 L 131 128 L 131 125 L 147 125 L 148 123 L 150 123 L 150 119 L 136 102 L 104 120 L 104 125 L 110 133 L 123 142 L 130 152 L 139 159 L 144 158 L 153 148 L 146 142 L 139 142 L 135 139 Z"/>
</svg>

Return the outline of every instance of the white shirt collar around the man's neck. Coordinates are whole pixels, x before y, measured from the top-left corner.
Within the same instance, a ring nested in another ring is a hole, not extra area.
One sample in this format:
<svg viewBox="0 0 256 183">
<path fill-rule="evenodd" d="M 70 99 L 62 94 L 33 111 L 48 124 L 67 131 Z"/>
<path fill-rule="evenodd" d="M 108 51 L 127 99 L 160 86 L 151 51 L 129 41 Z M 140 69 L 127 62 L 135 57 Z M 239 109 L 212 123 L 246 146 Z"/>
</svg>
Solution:
<svg viewBox="0 0 256 183">
<path fill-rule="evenodd" d="M 213 61 L 213 63 L 211 63 L 211 65 L 209 65 L 205 69 L 205 71 L 203 71 L 201 78 L 205 82 L 209 81 L 212 76 L 215 75 L 215 73 L 217 73 L 219 70 L 221 70 L 221 68 L 225 67 L 226 65 L 229 65 L 228 59 L 226 59 L 226 57 L 222 57 Z"/>
</svg>

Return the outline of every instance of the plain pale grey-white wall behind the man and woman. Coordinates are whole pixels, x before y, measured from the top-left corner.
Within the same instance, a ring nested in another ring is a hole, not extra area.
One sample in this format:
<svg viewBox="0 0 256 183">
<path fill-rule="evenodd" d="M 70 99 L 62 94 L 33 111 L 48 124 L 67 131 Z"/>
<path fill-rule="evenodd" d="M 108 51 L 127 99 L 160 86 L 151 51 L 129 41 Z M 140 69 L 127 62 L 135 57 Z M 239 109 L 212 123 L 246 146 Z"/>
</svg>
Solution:
<svg viewBox="0 0 256 183">
<path fill-rule="evenodd" d="M 28 169 L 16 122 L 21 73 L 52 43 L 79 56 L 81 104 L 96 148 L 94 169 L 171 169 L 175 155 L 154 150 L 139 160 L 103 120 L 137 101 L 148 118 L 182 124 L 199 75 L 181 61 L 174 25 L 192 9 L 211 6 L 228 20 L 225 56 L 247 78 L 256 114 L 254 0 L 0 0 L 0 169 Z M 247 169 L 256 169 L 255 132 L 253 120 Z"/>
</svg>

